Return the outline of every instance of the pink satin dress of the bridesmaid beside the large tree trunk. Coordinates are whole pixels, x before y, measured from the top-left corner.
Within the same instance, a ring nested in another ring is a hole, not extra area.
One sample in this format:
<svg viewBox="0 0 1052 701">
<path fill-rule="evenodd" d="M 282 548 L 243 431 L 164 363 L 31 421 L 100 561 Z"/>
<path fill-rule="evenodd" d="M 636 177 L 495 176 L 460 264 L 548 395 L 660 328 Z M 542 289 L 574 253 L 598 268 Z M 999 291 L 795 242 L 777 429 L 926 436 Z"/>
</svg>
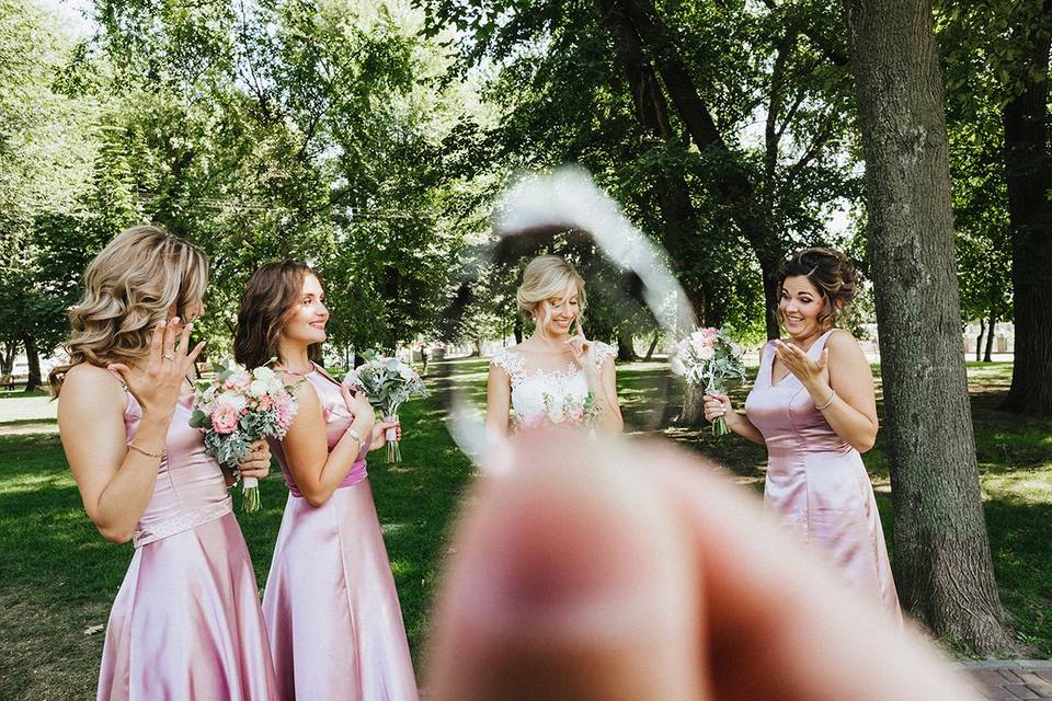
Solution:
<svg viewBox="0 0 1052 701">
<path fill-rule="evenodd" d="M 816 359 L 832 331 L 811 346 Z M 830 426 L 791 372 L 771 384 L 773 342 L 745 400 L 767 443 L 764 502 L 823 552 L 848 584 L 902 620 L 873 487 L 858 451 Z"/>
</svg>

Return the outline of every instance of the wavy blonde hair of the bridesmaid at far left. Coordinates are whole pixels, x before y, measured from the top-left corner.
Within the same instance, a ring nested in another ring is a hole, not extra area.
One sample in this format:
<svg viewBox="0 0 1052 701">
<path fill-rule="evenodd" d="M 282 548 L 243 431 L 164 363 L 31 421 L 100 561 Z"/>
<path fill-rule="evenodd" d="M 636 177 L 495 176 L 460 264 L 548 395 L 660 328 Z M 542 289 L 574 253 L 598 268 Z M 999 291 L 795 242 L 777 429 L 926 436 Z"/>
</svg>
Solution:
<svg viewBox="0 0 1052 701">
<path fill-rule="evenodd" d="M 208 286 L 208 260 L 201 249 L 160 227 L 123 231 L 84 271 L 84 296 L 69 310 L 69 365 L 52 371 L 58 397 L 66 371 L 80 363 L 105 367 L 147 355 L 153 326 L 201 301 Z"/>
</svg>

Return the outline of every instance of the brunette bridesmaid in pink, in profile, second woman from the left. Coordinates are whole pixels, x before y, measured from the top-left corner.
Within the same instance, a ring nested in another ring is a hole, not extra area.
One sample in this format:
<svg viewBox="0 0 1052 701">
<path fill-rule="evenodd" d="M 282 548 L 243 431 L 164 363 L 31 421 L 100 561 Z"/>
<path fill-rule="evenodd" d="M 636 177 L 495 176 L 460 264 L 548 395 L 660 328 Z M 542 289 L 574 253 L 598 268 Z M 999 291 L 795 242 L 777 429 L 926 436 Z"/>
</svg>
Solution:
<svg viewBox="0 0 1052 701">
<path fill-rule="evenodd" d="M 296 384 L 299 412 L 273 444 L 288 503 L 263 595 L 281 698 L 413 701 L 416 683 L 365 453 L 395 424 L 375 423 L 311 357 L 329 310 L 305 263 L 264 265 L 244 290 L 235 355 Z"/>
</svg>

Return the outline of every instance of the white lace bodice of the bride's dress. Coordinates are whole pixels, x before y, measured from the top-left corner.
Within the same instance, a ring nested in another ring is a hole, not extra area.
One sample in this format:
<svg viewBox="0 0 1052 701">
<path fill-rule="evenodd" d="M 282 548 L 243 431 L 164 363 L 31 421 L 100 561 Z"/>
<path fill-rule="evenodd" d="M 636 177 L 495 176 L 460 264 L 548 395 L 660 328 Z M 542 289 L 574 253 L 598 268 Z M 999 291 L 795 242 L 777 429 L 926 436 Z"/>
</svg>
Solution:
<svg viewBox="0 0 1052 701">
<path fill-rule="evenodd" d="M 596 368 L 607 358 L 617 356 L 617 348 L 595 342 Z M 588 381 L 584 369 L 573 361 L 562 370 L 527 368 L 526 358 L 511 348 L 502 348 L 491 359 L 505 372 L 512 382 L 512 409 L 521 427 L 535 425 L 546 417 L 556 423 L 579 407 L 588 395 Z"/>
</svg>

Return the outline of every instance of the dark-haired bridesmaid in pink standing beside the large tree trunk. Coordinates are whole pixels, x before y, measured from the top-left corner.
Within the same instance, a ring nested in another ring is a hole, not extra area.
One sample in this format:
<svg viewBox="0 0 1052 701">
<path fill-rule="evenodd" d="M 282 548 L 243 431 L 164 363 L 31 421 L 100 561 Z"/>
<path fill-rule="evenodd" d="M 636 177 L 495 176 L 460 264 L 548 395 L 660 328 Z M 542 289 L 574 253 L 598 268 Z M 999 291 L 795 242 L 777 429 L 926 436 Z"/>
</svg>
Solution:
<svg viewBox="0 0 1052 701">
<path fill-rule="evenodd" d="M 705 416 L 767 448 L 764 501 L 819 545 L 855 587 L 901 620 L 888 549 L 860 452 L 877 439 L 869 361 L 834 329 L 851 300 L 855 268 L 839 251 L 807 249 L 782 265 L 778 310 L 788 333 L 762 350 L 745 415 L 725 394 L 706 395 Z"/>
</svg>

